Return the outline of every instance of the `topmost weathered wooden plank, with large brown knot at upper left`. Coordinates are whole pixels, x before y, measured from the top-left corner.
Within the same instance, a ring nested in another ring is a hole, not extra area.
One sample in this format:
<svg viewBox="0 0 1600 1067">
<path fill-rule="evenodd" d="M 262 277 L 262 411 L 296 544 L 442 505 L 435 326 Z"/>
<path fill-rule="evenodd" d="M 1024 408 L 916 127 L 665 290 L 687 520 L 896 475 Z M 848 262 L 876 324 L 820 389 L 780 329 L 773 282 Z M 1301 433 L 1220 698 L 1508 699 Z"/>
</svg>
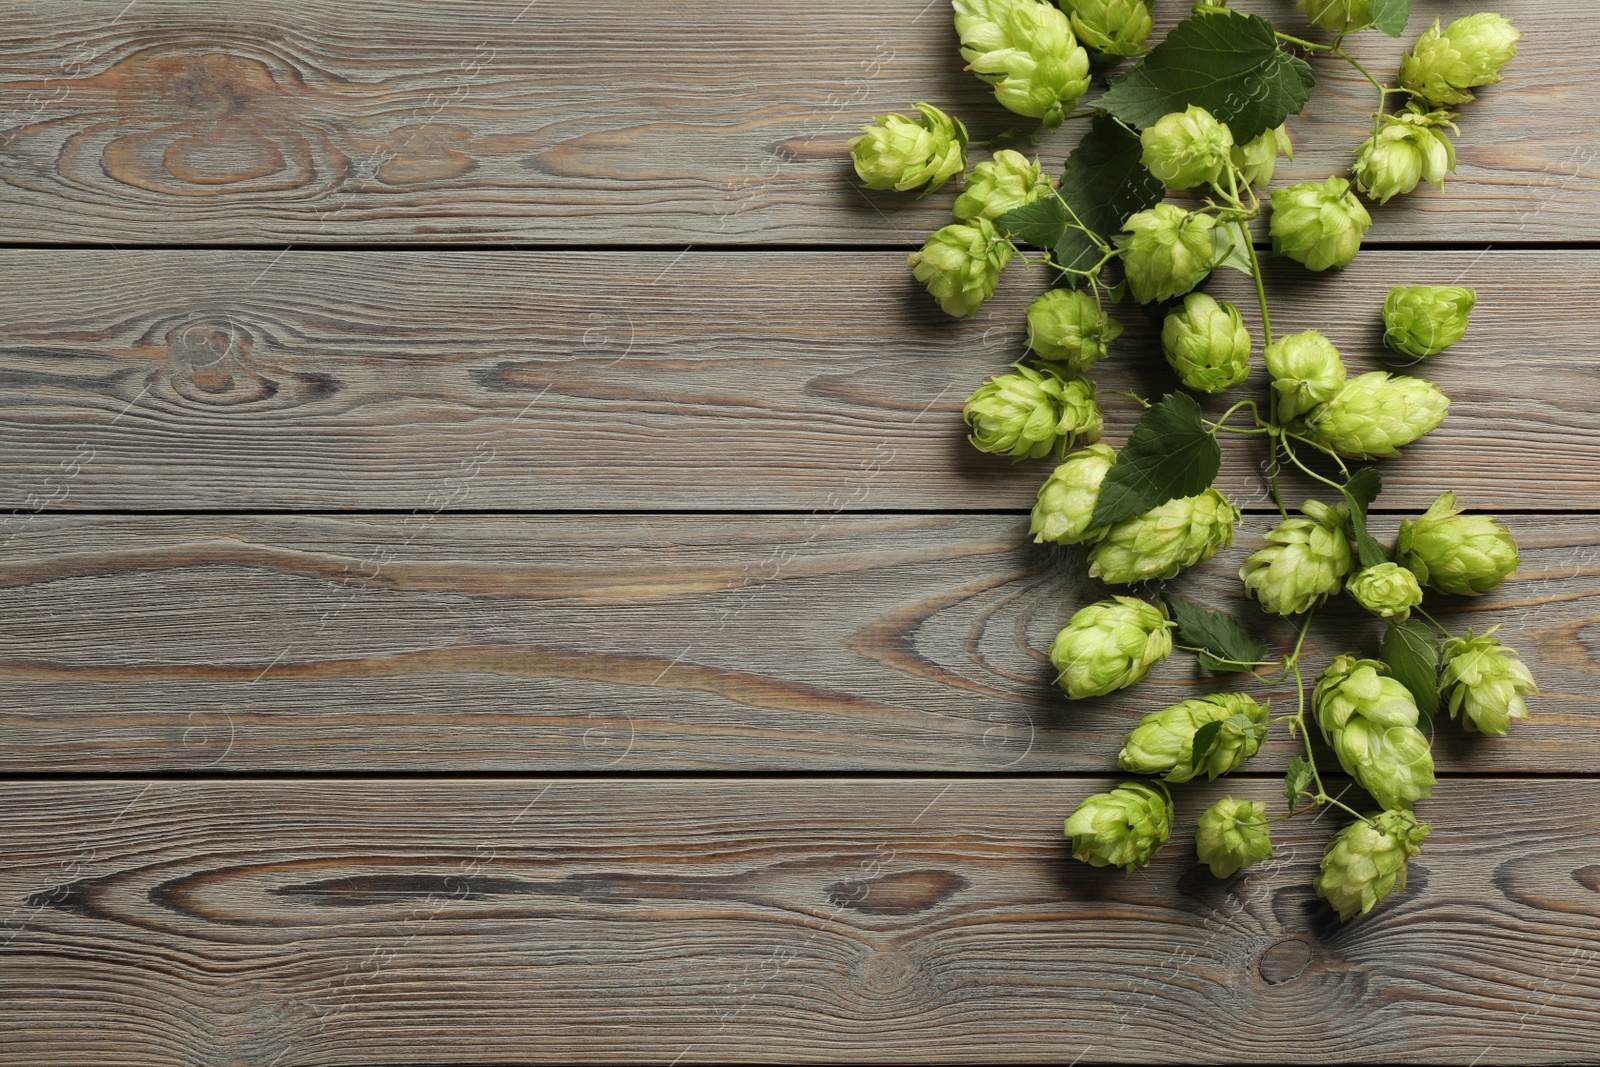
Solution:
<svg viewBox="0 0 1600 1067">
<path fill-rule="evenodd" d="M 1157 35 L 1186 8 L 1158 3 Z M 1525 30 L 1507 83 L 1462 109 L 1454 186 L 1384 208 L 1374 242 L 1600 237 L 1590 5 L 1494 8 Z M 1462 13 L 1413 11 L 1406 43 Z M 29 0 L 5 37 L 6 240 L 906 246 L 954 189 L 861 192 L 858 126 L 920 99 L 976 138 L 1027 122 L 962 72 L 944 0 Z M 1352 42 L 1384 77 L 1403 46 Z M 1347 170 L 1374 106 L 1317 66 L 1286 176 Z M 1043 139 L 1051 170 L 1080 131 Z"/>
</svg>

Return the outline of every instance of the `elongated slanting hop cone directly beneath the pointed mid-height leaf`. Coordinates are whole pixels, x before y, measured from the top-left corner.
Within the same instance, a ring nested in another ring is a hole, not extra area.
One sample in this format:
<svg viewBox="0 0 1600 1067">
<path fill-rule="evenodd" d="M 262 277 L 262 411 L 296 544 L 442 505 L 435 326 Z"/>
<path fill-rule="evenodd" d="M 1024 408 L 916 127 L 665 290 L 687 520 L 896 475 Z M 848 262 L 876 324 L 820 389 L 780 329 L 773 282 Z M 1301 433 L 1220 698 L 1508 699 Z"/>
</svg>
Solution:
<svg viewBox="0 0 1600 1067">
<path fill-rule="evenodd" d="M 1090 549 L 1090 576 L 1109 585 L 1174 577 L 1234 544 L 1238 520 L 1216 490 L 1166 501 L 1107 528 Z"/>
</svg>

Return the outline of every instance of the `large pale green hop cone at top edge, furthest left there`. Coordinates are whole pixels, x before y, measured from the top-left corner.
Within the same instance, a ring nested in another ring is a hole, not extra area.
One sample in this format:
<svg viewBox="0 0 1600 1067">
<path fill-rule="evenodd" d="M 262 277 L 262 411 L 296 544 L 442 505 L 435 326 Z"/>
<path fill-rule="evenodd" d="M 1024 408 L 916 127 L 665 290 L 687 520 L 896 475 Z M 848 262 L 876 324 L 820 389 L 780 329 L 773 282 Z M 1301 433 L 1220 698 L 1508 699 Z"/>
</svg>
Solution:
<svg viewBox="0 0 1600 1067">
<path fill-rule="evenodd" d="M 1090 56 L 1066 14 L 1040 0 L 954 0 L 966 69 L 1002 106 L 1054 130 L 1090 88 Z"/>
</svg>

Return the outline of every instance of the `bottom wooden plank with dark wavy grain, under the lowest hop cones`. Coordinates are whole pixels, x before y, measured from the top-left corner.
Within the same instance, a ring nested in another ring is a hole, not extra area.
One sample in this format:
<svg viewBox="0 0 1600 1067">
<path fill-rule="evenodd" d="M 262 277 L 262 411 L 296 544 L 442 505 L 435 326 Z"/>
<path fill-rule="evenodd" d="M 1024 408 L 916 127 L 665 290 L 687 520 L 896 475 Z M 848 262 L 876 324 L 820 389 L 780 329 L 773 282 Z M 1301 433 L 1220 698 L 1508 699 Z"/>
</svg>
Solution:
<svg viewBox="0 0 1600 1067">
<path fill-rule="evenodd" d="M 1339 928 L 1334 819 L 1234 881 L 1066 857 L 1102 779 L 0 789 L 29 1064 L 1587 1062 L 1600 784 L 1450 782 Z M 1234 792 L 1269 803 L 1270 782 Z"/>
</svg>

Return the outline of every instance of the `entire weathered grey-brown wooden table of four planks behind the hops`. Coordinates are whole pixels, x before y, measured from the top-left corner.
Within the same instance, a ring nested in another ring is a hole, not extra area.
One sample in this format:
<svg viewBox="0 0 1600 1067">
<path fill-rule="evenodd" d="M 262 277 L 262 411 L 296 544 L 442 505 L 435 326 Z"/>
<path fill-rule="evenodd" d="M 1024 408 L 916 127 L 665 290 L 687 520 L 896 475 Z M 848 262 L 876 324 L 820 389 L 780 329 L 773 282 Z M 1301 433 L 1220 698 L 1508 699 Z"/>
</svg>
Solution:
<svg viewBox="0 0 1600 1067">
<path fill-rule="evenodd" d="M 1389 285 L 1478 288 L 1374 525 L 1506 515 L 1470 619 L 1544 686 L 1438 725 L 1411 886 L 1338 926 L 1333 817 L 1200 870 L 1221 785 L 1138 875 L 1067 857 L 1130 723 L 1214 683 L 1050 686 L 1096 593 L 1026 542 L 1045 467 L 960 429 L 1045 278 L 946 318 L 902 259 L 954 190 L 843 147 L 917 99 L 1010 125 L 938 0 L 8 5 L 0 1059 L 1600 1059 L 1597 37 L 1498 10 L 1451 187 L 1275 272 L 1362 368 Z M 1370 110 L 1318 74 L 1291 176 Z M 1101 381 L 1171 387 L 1147 326 Z M 1270 523 L 1229 445 L 1253 514 L 1174 582 L 1213 605 Z M 1315 662 L 1374 635 L 1334 606 Z"/>
</svg>

